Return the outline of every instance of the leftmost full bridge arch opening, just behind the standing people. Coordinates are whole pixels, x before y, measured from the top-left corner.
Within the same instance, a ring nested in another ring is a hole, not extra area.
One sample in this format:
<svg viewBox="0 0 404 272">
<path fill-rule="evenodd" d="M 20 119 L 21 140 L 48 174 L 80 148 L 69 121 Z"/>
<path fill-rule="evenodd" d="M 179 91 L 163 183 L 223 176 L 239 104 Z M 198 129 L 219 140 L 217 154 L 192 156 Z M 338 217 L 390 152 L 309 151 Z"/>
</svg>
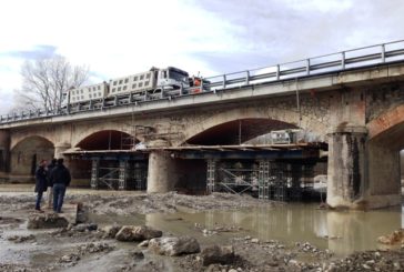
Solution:
<svg viewBox="0 0 404 272">
<path fill-rule="evenodd" d="M 11 173 L 33 175 L 40 160 L 51 160 L 54 144 L 44 137 L 30 135 L 11 148 Z"/>
</svg>

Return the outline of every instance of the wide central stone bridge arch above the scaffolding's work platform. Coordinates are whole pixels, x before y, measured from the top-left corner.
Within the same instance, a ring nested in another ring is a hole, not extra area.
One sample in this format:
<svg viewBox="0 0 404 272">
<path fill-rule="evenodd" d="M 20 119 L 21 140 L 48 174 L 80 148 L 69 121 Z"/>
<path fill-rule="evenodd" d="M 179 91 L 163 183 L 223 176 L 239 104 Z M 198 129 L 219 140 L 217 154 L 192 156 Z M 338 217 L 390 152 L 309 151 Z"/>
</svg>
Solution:
<svg viewBox="0 0 404 272">
<path fill-rule="evenodd" d="M 248 130 L 244 130 L 243 135 L 244 125 Z M 185 140 L 180 144 L 202 144 L 204 141 L 208 144 L 239 144 L 240 138 L 241 142 L 245 142 L 271 130 L 296 128 L 304 129 L 317 141 L 326 141 L 327 124 L 305 114 L 300 114 L 295 110 L 244 108 L 219 112 L 199 122 L 189 123 L 183 132 Z M 226 133 L 221 135 L 216 142 L 206 140 L 219 137 L 223 131 Z M 233 139 L 230 139 L 230 134 L 233 134 Z"/>
</svg>

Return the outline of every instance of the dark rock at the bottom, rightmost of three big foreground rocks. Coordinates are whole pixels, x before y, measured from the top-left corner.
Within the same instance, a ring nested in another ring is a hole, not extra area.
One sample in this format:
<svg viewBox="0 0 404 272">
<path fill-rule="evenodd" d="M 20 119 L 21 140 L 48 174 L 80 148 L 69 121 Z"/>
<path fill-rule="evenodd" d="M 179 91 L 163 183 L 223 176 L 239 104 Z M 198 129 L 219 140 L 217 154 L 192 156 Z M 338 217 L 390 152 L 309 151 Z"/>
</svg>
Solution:
<svg viewBox="0 0 404 272">
<path fill-rule="evenodd" d="M 202 250 L 202 264 L 210 265 L 213 263 L 230 264 L 235 260 L 234 249 L 232 245 L 219 246 L 212 245 Z"/>
</svg>

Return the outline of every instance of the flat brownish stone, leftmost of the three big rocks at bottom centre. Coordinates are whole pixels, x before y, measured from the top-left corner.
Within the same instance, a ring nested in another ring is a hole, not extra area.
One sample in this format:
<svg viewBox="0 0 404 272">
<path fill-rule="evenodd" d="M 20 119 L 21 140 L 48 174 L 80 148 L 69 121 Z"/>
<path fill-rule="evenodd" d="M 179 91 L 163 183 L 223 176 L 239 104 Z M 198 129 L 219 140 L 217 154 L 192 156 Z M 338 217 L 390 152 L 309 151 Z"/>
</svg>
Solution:
<svg viewBox="0 0 404 272">
<path fill-rule="evenodd" d="M 117 233 L 118 241 L 144 241 L 160 238 L 163 233 L 147 225 L 123 225 Z"/>
</svg>

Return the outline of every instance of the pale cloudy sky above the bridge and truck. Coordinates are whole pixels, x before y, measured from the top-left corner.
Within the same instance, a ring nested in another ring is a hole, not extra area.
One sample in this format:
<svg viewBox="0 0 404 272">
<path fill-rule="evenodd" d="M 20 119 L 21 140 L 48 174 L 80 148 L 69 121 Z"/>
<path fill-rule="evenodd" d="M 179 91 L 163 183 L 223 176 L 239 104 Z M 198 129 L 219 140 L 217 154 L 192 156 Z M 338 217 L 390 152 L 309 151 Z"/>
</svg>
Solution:
<svg viewBox="0 0 404 272">
<path fill-rule="evenodd" d="M 91 83 L 178 67 L 203 77 L 404 39 L 402 0 L 12 0 L 0 3 L 0 114 L 26 60 L 60 54 Z"/>
</svg>

